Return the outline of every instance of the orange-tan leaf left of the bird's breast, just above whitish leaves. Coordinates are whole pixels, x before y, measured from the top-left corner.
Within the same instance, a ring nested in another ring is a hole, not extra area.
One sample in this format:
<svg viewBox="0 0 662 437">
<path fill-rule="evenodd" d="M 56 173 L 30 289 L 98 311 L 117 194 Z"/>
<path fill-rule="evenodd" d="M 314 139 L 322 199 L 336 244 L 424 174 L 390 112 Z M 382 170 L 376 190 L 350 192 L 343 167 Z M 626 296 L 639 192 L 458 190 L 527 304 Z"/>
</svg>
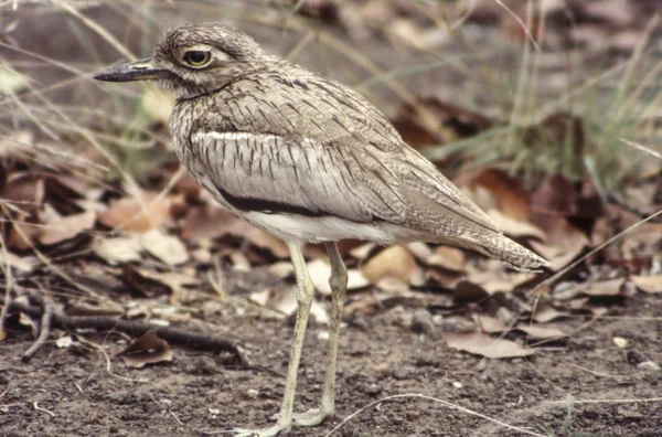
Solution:
<svg viewBox="0 0 662 437">
<path fill-rule="evenodd" d="M 145 191 L 111 201 L 99 214 L 99 222 L 113 230 L 147 233 L 159 227 L 170 214 L 170 200 Z"/>
</svg>

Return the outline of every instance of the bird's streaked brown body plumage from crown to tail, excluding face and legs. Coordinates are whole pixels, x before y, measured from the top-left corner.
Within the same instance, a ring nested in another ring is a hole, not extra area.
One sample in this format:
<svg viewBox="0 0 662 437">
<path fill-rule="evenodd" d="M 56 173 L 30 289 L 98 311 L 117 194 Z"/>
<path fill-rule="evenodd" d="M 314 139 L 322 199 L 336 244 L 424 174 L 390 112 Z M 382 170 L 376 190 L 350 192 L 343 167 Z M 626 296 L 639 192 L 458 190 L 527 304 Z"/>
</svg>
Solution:
<svg viewBox="0 0 662 437">
<path fill-rule="evenodd" d="M 173 41 L 190 44 L 183 34 L 211 41 L 205 33 L 217 29 L 225 41 L 243 39 L 252 62 L 217 88 L 186 89 L 170 127 L 179 158 L 222 204 L 289 241 L 417 239 L 479 251 L 516 269 L 546 265 L 503 236 L 352 89 L 215 24 L 174 31 L 154 58 L 170 53 Z M 285 220 L 263 214 L 286 214 L 299 230 L 284 230 L 276 222 Z M 335 218 L 335 225 L 320 226 L 320 217 Z"/>
</svg>

